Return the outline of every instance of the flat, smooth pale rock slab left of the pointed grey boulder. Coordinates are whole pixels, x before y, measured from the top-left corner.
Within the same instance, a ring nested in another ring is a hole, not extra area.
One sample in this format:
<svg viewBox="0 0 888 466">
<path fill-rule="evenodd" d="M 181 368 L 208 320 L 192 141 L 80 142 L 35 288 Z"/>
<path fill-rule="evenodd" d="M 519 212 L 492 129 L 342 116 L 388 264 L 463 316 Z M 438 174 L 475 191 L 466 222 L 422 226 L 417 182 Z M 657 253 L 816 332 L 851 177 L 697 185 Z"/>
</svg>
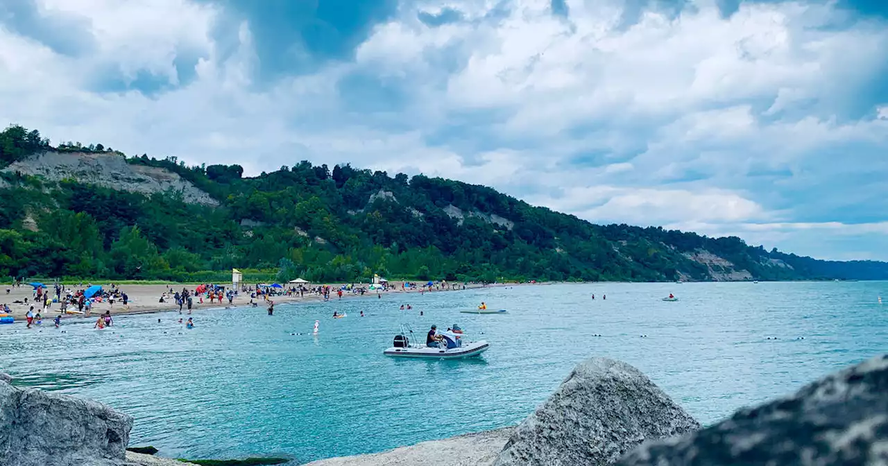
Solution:
<svg viewBox="0 0 888 466">
<path fill-rule="evenodd" d="M 512 428 L 401 446 L 383 453 L 359 454 L 310 462 L 305 466 L 490 466 Z"/>
</svg>

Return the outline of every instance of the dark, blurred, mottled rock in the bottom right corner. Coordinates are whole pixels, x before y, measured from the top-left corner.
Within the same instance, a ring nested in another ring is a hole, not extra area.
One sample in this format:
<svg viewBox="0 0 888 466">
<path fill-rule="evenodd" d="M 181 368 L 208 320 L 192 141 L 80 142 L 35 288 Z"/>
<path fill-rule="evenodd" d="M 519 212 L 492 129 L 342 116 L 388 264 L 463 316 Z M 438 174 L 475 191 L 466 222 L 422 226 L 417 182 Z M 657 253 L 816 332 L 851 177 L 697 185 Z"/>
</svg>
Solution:
<svg viewBox="0 0 888 466">
<path fill-rule="evenodd" d="M 888 464 L 888 355 L 704 430 L 646 443 L 618 464 Z"/>
</svg>

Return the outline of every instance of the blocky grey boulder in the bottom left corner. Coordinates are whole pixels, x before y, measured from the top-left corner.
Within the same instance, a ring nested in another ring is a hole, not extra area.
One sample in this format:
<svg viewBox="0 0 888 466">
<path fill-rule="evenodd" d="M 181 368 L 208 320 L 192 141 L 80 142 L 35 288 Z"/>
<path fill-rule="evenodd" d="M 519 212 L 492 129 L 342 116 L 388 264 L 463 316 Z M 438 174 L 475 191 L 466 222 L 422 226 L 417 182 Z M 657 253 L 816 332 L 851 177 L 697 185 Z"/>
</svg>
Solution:
<svg viewBox="0 0 888 466">
<path fill-rule="evenodd" d="M 95 401 L 0 382 L 0 465 L 119 466 L 131 429 Z"/>
</svg>

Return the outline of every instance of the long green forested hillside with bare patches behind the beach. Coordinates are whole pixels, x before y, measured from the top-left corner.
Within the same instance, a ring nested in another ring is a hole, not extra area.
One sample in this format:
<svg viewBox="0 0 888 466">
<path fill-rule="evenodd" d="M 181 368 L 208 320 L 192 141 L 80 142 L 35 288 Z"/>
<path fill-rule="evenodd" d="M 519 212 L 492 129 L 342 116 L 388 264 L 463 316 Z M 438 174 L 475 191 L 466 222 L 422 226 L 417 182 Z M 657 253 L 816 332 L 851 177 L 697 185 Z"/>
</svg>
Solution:
<svg viewBox="0 0 888 466">
<path fill-rule="evenodd" d="M 101 145 L 0 133 L 0 276 L 226 280 L 884 279 L 888 264 L 827 262 L 662 228 L 593 225 L 422 175 L 298 162 L 256 178 Z"/>
</svg>

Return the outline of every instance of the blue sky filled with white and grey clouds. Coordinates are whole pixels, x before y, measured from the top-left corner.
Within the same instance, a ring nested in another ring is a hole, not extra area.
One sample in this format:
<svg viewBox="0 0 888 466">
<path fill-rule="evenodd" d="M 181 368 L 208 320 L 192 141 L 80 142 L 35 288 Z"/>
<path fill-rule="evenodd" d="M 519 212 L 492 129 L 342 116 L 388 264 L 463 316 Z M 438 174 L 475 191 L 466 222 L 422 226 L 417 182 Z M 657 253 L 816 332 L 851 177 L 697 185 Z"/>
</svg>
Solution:
<svg viewBox="0 0 888 466">
<path fill-rule="evenodd" d="M 9 123 L 888 260 L 883 0 L 3 0 Z"/>
</svg>

